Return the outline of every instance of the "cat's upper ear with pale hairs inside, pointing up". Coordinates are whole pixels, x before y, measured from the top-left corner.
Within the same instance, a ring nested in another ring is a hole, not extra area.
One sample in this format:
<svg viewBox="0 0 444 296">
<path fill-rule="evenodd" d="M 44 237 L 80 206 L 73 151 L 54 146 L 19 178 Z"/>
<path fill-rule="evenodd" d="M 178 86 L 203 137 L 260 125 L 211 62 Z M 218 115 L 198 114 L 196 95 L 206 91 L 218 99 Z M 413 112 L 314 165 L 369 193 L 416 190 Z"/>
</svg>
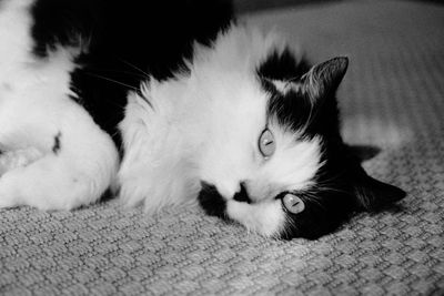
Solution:
<svg viewBox="0 0 444 296">
<path fill-rule="evenodd" d="M 349 68 L 349 58 L 339 57 L 314 65 L 302 76 L 303 86 L 314 101 L 334 93 Z"/>
</svg>

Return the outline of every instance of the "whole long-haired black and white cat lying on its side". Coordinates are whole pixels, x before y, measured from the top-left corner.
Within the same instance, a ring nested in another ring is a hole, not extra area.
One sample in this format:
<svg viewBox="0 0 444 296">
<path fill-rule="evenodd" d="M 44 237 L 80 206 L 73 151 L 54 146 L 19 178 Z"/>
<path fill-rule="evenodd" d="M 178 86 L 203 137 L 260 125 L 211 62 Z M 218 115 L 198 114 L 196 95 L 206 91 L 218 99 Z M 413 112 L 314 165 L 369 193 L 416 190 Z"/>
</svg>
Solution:
<svg viewBox="0 0 444 296">
<path fill-rule="evenodd" d="M 342 142 L 346 58 L 313 68 L 208 0 L 0 0 L 0 207 L 112 188 L 199 201 L 265 236 L 317 237 L 405 193 Z M 120 154 L 120 155 L 119 155 Z"/>
</svg>

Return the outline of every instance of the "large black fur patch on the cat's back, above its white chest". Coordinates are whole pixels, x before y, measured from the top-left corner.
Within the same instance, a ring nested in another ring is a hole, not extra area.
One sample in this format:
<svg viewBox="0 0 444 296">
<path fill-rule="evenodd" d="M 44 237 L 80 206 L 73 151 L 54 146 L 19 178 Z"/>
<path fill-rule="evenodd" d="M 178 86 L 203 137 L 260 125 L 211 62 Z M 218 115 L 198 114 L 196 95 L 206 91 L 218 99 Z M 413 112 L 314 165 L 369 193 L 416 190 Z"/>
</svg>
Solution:
<svg viewBox="0 0 444 296">
<path fill-rule="evenodd" d="M 186 71 L 192 42 L 210 44 L 229 25 L 232 8 L 229 0 L 37 0 L 32 14 L 36 55 L 59 44 L 88 45 L 72 90 L 120 145 L 117 125 L 128 91 L 149 75 L 164 80 Z"/>
</svg>

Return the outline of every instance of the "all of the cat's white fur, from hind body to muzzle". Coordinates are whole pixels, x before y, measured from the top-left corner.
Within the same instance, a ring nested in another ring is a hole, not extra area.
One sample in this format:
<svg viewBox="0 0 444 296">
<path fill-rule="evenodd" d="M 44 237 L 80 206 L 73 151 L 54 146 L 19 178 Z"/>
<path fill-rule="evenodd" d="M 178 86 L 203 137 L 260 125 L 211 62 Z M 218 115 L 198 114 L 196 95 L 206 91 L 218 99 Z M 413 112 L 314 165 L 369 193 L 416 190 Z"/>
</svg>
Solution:
<svg viewBox="0 0 444 296">
<path fill-rule="evenodd" d="M 0 207 L 70 210 L 97 201 L 113 184 L 118 152 L 70 99 L 69 73 L 79 67 L 73 62 L 79 49 L 58 49 L 43 60 L 31 54 L 31 2 L 1 2 Z M 129 93 L 120 124 L 122 202 L 154 212 L 195 201 L 204 181 L 228 201 L 231 218 L 264 235 L 281 232 L 285 214 L 274 196 L 306 187 L 322 165 L 317 139 L 295 141 L 275 119 L 266 119 L 270 94 L 255 71 L 272 50 L 283 48 L 274 33 L 233 25 L 212 49 L 194 45 L 190 72 L 163 82 L 150 79 L 141 95 Z M 276 142 L 270 159 L 258 149 L 265 125 Z M 241 182 L 252 204 L 233 200 Z"/>
</svg>

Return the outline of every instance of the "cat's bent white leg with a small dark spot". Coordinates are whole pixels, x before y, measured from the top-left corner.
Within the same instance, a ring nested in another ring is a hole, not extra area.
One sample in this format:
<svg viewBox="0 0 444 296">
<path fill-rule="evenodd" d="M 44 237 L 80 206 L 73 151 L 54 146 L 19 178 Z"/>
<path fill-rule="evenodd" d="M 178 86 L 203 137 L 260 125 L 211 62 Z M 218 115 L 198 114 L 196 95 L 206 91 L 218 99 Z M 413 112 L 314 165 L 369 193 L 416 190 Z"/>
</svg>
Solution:
<svg viewBox="0 0 444 296">
<path fill-rule="evenodd" d="M 0 207 L 71 210 L 95 202 L 114 182 L 117 149 L 80 105 L 23 102 L 2 111 Z"/>
</svg>

